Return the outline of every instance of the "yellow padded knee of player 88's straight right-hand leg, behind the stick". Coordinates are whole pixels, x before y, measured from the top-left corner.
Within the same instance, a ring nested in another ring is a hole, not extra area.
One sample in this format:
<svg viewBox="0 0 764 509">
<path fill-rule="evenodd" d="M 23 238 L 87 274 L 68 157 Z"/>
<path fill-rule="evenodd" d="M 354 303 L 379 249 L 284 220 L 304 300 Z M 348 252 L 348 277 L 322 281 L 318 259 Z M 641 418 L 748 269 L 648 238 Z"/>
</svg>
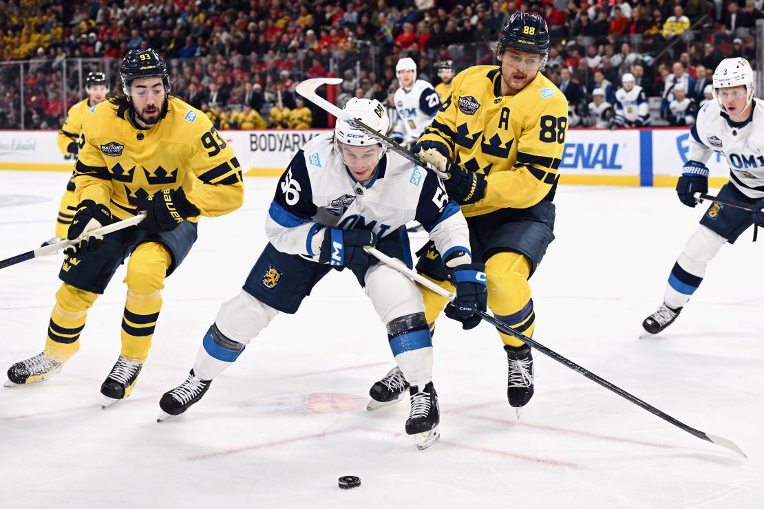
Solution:
<svg viewBox="0 0 764 509">
<path fill-rule="evenodd" d="M 531 336 L 536 324 L 536 313 L 528 284 L 530 260 L 520 253 L 497 253 L 487 260 L 485 272 L 491 311 L 504 324 Z M 509 334 L 499 335 L 504 344 L 523 345 L 522 341 Z"/>
</svg>

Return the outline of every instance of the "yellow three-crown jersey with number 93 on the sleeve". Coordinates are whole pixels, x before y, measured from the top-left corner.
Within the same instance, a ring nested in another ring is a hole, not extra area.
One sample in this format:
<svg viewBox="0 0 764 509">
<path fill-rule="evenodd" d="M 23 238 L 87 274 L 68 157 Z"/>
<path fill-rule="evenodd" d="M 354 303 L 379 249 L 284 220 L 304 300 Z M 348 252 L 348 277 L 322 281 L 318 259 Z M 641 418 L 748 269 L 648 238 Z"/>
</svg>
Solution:
<svg viewBox="0 0 764 509">
<path fill-rule="evenodd" d="M 128 115 L 109 101 L 83 114 L 74 170 L 79 201 L 108 205 L 125 219 L 149 196 L 183 188 L 203 216 L 241 207 L 238 160 L 205 114 L 173 97 L 165 117 L 148 129 L 134 127 Z"/>
</svg>

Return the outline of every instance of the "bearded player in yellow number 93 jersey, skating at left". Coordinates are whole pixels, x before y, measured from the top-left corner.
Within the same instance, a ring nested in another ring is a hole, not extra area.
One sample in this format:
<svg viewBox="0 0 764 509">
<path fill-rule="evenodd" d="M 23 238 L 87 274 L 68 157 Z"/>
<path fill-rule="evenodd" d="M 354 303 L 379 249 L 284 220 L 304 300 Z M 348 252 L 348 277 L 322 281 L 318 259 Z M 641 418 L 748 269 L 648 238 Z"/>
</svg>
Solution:
<svg viewBox="0 0 764 509">
<path fill-rule="evenodd" d="M 89 108 L 75 166 L 79 200 L 47 327 L 45 350 L 8 369 L 6 385 L 50 378 L 79 349 L 88 309 L 130 256 L 121 353 L 101 392 L 104 406 L 130 395 L 151 347 L 164 279 L 196 241 L 200 215 L 241 206 L 244 185 L 233 150 L 201 111 L 167 95 L 167 65 L 154 50 L 122 61 L 124 95 Z M 146 211 L 136 227 L 106 236 L 95 228 Z"/>
</svg>

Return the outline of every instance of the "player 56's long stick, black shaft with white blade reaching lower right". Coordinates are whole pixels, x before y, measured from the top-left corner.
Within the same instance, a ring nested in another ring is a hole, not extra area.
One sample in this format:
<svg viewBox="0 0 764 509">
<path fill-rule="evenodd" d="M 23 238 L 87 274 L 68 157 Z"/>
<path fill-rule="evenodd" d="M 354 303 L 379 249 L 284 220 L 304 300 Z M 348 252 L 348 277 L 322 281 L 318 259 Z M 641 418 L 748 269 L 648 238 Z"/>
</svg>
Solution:
<svg viewBox="0 0 764 509">
<path fill-rule="evenodd" d="M 418 273 L 409 269 L 400 260 L 395 258 L 390 258 L 390 256 L 387 256 L 384 253 L 380 253 L 380 251 L 376 250 L 374 247 L 366 247 L 364 249 L 367 251 L 367 253 L 376 256 L 377 259 L 380 259 L 381 262 L 387 263 L 387 265 L 393 267 L 393 269 L 397 269 L 399 272 L 403 273 L 404 275 L 409 276 L 411 279 L 418 282 L 420 285 L 426 286 L 426 288 L 429 288 L 430 290 L 432 290 L 432 292 L 435 292 L 436 294 L 447 298 L 449 301 L 454 300 L 455 298 L 454 294 L 446 291 L 445 289 L 439 287 L 438 285 L 435 285 L 435 283 L 433 283 L 429 279 L 426 279 L 422 275 L 419 275 Z M 528 343 L 530 346 L 533 346 L 533 348 L 535 348 L 536 350 L 539 350 L 539 352 L 545 354 L 546 356 L 552 357 L 552 359 L 555 359 L 557 362 L 560 362 L 561 364 L 563 364 L 564 366 L 567 366 L 573 371 L 581 373 L 581 375 L 584 375 L 586 378 L 590 379 L 592 382 L 596 382 L 597 384 L 602 385 L 607 390 L 615 392 L 617 395 L 621 396 L 622 398 L 625 398 L 631 401 L 633 404 L 636 404 L 637 406 L 644 408 L 646 411 L 649 411 L 651 414 L 657 415 L 661 419 L 669 422 L 670 424 L 673 424 L 674 426 L 680 428 L 681 430 L 685 430 L 687 433 L 690 433 L 691 435 L 694 435 L 695 437 L 705 440 L 706 442 L 711 442 L 722 447 L 727 447 L 727 449 L 730 449 L 731 451 L 734 451 L 735 453 L 740 454 L 740 456 L 743 456 L 743 458 L 748 457 L 746 456 L 745 453 L 743 453 L 740 447 L 736 446 L 735 443 L 733 443 L 731 440 L 727 440 L 726 438 L 722 438 L 722 437 L 717 437 L 716 435 L 710 435 L 700 430 L 696 430 L 693 427 L 689 427 L 687 424 L 681 423 L 680 421 L 676 420 L 674 417 L 671 417 L 669 414 L 665 414 L 662 411 L 659 411 L 657 408 L 653 407 L 651 404 L 647 404 L 645 401 L 642 401 L 641 399 L 636 398 L 636 396 L 631 395 L 630 393 L 624 391 L 622 388 L 617 387 L 616 385 L 613 385 L 610 382 L 607 382 L 607 380 L 602 379 L 601 377 L 597 375 L 594 375 L 594 373 L 588 371 L 588 369 L 578 366 L 578 364 L 576 364 L 575 362 L 569 359 L 566 359 L 565 357 L 561 356 L 559 353 L 556 353 L 554 350 L 549 350 L 549 348 L 537 342 L 536 340 L 533 340 L 527 337 L 525 334 L 520 333 L 517 330 L 514 330 L 512 327 L 509 327 L 507 324 L 504 324 L 503 322 L 498 321 L 496 317 L 480 310 L 476 310 L 475 313 L 477 313 L 478 316 L 480 316 L 484 321 L 487 321 L 489 324 L 499 329 L 501 332 L 505 334 L 509 334 L 510 336 L 516 337 L 518 340 L 523 341 L 524 343 Z"/>
</svg>

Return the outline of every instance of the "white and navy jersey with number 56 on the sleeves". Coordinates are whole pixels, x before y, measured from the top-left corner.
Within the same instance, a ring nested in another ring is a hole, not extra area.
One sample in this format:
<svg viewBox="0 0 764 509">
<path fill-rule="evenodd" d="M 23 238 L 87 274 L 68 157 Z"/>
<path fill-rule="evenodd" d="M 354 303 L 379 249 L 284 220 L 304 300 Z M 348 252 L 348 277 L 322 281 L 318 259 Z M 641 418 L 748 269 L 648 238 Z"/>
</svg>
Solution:
<svg viewBox="0 0 764 509">
<path fill-rule="evenodd" d="M 439 252 L 469 252 L 467 221 L 429 170 L 387 151 L 377 173 L 357 182 L 335 150 L 333 134 L 322 134 L 299 150 L 279 179 L 265 230 L 283 253 L 315 261 L 313 237 L 321 227 L 366 228 L 380 238 L 419 221 Z"/>
</svg>

